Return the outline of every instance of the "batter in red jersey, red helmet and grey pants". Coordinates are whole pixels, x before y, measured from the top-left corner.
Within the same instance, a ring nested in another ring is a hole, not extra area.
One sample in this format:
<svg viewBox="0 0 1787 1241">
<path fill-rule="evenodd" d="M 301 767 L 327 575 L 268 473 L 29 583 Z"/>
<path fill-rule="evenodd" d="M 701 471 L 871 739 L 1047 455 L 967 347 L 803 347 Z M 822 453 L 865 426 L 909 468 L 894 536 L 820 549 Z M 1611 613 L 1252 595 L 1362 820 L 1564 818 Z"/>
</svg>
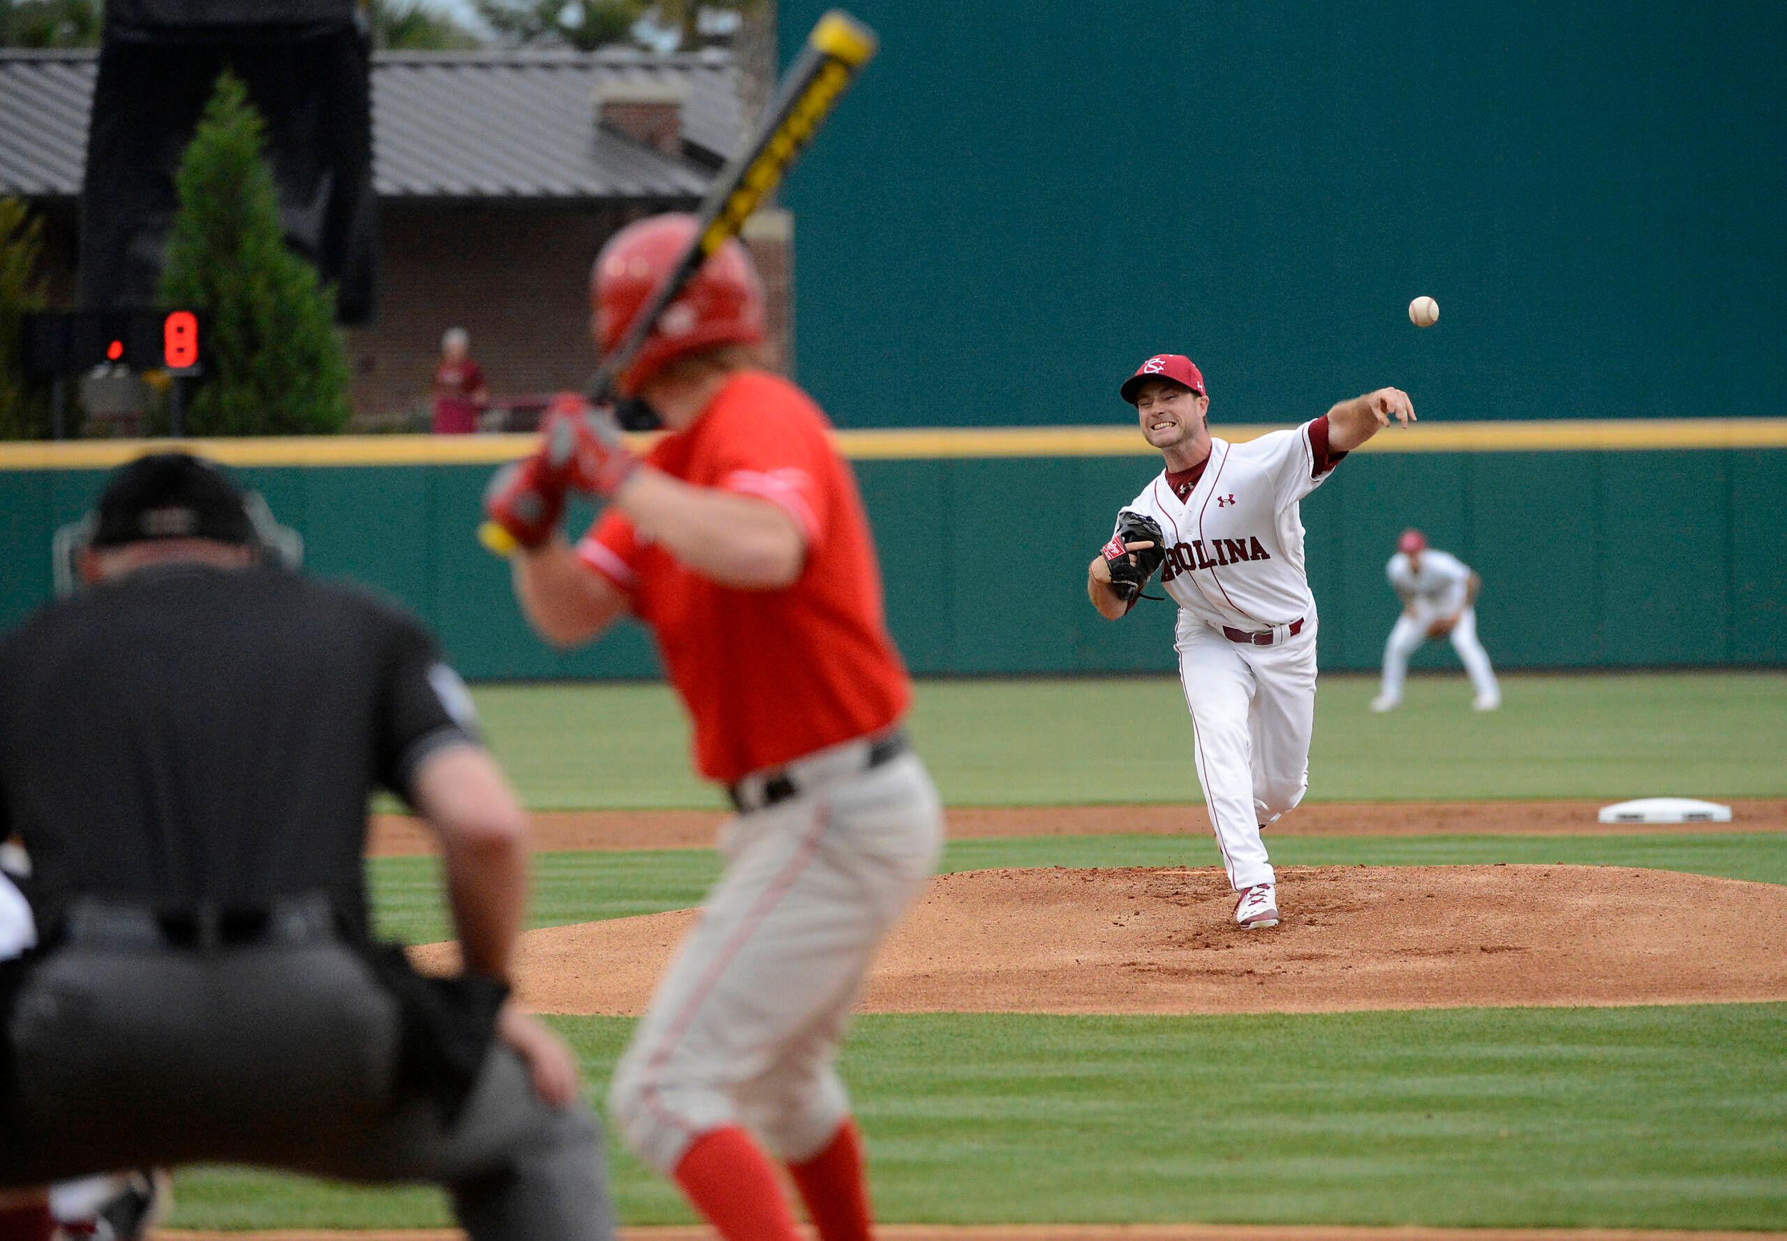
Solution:
<svg viewBox="0 0 1787 1241">
<path fill-rule="evenodd" d="M 695 230 L 656 216 L 591 273 L 609 350 Z M 872 1236 L 861 1141 L 833 1057 L 868 966 L 931 873 L 942 811 L 901 720 L 868 521 L 829 423 L 758 370 L 763 286 L 727 241 L 618 379 L 668 427 L 645 461 L 606 409 L 561 396 L 541 448 L 491 480 L 520 545 L 515 593 L 547 639 L 631 614 L 693 720 L 695 764 L 738 816 L 726 871 L 615 1071 L 622 1134 L 729 1241 L 801 1232 L 783 1161 L 824 1241 Z M 566 489 L 606 496 L 570 546 Z M 767 1152 L 767 1154 L 765 1154 Z"/>
</svg>

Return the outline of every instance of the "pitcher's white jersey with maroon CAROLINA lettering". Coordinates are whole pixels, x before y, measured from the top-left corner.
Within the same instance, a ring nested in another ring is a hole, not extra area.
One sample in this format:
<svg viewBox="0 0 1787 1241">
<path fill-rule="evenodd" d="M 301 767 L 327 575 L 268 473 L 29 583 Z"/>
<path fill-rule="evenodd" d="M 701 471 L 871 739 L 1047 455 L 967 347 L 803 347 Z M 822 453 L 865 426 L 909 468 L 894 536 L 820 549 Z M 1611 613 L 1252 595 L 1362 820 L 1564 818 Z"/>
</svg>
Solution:
<svg viewBox="0 0 1787 1241">
<path fill-rule="evenodd" d="M 1217 629 L 1249 632 L 1315 620 L 1297 502 L 1346 455 L 1328 452 L 1326 432 L 1319 418 L 1240 445 L 1212 437 L 1208 464 L 1187 498 L 1174 495 L 1162 471 L 1124 505 L 1151 516 L 1167 536 L 1160 580 L 1181 609 Z"/>
</svg>

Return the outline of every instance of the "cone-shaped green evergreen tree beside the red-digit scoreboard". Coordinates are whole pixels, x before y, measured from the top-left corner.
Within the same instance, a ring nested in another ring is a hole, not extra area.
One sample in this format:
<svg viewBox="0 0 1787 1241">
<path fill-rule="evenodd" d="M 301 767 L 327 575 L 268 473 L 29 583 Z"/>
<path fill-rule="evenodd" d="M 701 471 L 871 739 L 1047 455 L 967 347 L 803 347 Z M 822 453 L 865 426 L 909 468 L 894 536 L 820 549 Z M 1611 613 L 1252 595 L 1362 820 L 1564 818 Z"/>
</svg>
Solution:
<svg viewBox="0 0 1787 1241">
<path fill-rule="evenodd" d="M 191 436 L 298 436 L 348 418 L 347 350 L 334 291 L 286 248 L 259 112 L 225 71 L 175 175 L 161 302 L 209 316 L 209 375 L 186 414 Z"/>
</svg>

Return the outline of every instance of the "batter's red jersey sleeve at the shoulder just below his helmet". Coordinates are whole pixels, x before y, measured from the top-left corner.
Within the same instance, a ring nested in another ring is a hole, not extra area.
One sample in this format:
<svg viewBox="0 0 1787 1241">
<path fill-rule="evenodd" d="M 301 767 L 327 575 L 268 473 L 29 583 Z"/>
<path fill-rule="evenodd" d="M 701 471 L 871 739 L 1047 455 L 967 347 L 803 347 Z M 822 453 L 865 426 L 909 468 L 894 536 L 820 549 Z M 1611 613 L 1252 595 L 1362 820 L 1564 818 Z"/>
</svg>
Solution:
<svg viewBox="0 0 1787 1241">
<path fill-rule="evenodd" d="M 795 391 L 776 393 L 751 411 L 749 421 L 717 427 L 722 434 L 709 446 L 706 473 L 722 491 L 768 500 L 801 527 L 808 546 L 824 539 L 831 520 L 826 479 L 831 445 L 826 420 L 817 407 L 799 407 Z"/>
</svg>

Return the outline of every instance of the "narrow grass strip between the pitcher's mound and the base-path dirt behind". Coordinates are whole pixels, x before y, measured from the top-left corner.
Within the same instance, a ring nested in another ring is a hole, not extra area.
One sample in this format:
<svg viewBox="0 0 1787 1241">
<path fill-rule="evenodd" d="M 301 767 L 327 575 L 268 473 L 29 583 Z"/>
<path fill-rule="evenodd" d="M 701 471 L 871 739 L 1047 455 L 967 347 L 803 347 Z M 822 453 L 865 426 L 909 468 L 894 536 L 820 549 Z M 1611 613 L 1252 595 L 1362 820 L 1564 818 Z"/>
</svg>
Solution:
<svg viewBox="0 0 1787 1241">
<path fill-rule="evenodd" d="M 1192 818 L 1201 818 L 1194 812 Z M 1206 823 L 1187 836 L 1028 836 L 951 841 L 942 870 L 999 866 L 1219 866 Z M 1637 866 L 1787 884 L 1787 836 L 1267 836 L 1279 866 Z M 368 862 L 379 932 L 404 943 L 450 937 L 431 857 Z M 565 927 L 699 905 L 720 875 L 711 850 L 572 852 L 534 857 L 529 927 Z M 1288 896 L 1288 891 L 1287 891 Z"/>
</svg>

